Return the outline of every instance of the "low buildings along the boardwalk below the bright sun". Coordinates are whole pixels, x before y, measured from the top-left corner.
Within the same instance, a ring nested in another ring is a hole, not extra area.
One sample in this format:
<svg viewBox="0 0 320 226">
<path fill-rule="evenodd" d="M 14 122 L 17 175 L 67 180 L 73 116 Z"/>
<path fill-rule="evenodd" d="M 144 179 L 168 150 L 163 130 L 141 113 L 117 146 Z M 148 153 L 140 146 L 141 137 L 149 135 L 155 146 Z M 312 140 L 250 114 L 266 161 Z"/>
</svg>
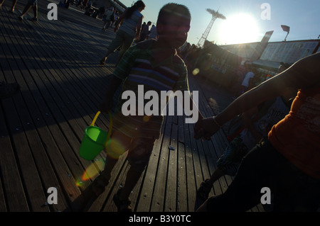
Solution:
<svg viewBox="0 0 320 226">
<path fill-rule="evenodd" d="M 239 82 L 239 73 L 245 68 L 242 67 L 245 63 L 252 65 L 257 85 L 277 74 L 281 62 L 293 64 L 303 57 L 320 52 L 320 40 L 269 43 L 269 38 L 265 36 L 257 43 L 219 46 L 206 41 L 199 50 L 191 73 L 233 90 L 234 84 Z"/>
</svg>

